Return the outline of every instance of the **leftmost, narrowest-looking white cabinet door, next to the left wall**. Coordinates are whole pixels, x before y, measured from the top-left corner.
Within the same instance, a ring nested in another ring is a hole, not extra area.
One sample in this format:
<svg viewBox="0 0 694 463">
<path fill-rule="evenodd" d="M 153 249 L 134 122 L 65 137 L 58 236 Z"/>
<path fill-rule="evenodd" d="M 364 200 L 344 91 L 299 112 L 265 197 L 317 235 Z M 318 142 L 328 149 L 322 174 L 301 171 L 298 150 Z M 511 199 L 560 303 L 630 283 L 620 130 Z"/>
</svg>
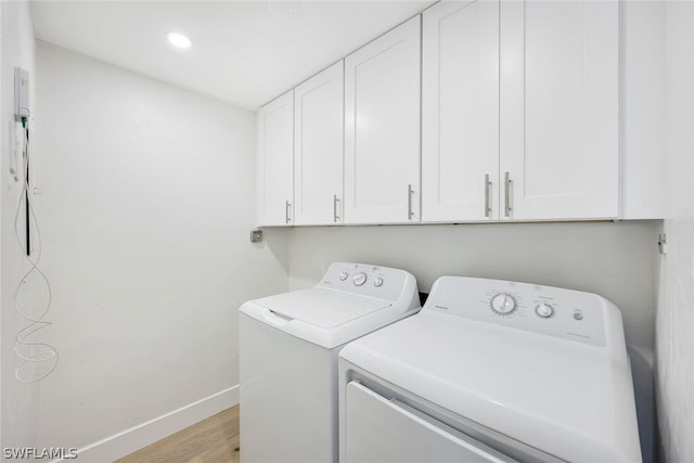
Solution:
<svg viewBox="0 0 694 463">
<path fill-rule="evenodd" d="M 294 91 L 258 111 L 258 224 L 292 224 Z"/>
</svg>

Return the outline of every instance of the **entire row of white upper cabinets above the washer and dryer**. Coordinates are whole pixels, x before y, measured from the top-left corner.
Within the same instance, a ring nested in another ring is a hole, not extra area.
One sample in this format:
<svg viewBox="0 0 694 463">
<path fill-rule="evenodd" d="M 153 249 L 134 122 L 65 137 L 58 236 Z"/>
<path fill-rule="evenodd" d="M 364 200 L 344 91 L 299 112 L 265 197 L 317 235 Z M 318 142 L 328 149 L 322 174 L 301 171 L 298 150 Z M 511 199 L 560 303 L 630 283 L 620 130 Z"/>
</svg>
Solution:
<svg viewBox="0 0 694 463">
<path fill-rule="evenodd" d="M 389 30 L 258 112 L 258 223 L 658 217 L 660 7 L 624 8 L 441 1 Z"/>
</svg>

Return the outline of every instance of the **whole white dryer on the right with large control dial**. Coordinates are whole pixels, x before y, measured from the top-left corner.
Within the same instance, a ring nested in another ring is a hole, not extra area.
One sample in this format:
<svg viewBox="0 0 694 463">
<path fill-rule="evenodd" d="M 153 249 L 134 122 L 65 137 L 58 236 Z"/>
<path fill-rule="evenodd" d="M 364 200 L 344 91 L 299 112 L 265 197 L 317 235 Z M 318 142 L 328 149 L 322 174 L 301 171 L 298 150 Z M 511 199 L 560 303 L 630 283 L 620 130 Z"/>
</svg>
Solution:
<svg viewBox="0 0 694 463">
<path fill-rule="evenodd" d="M 340 463 L 641 462 L 619 310 L 594 294 L 442 276 L 339 353 Z"/>
</svg>

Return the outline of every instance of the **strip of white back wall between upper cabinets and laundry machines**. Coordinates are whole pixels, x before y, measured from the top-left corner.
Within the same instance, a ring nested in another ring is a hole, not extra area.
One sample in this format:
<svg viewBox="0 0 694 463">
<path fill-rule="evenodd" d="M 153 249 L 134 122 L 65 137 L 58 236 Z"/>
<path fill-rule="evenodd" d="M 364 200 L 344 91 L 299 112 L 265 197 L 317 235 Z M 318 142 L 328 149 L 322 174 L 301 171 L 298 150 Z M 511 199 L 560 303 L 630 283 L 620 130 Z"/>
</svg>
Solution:
<svg viewBox="0 0 694 463">
<path fill-rule="evenodd" d="M 597 293 L 621 308 L 627 339 L 651 348 L 657 222 L 297 228 L 290 286 L 332 261 L 403 268 L 428 292 L 440 275 L 515 280 Z"/>
</svg>

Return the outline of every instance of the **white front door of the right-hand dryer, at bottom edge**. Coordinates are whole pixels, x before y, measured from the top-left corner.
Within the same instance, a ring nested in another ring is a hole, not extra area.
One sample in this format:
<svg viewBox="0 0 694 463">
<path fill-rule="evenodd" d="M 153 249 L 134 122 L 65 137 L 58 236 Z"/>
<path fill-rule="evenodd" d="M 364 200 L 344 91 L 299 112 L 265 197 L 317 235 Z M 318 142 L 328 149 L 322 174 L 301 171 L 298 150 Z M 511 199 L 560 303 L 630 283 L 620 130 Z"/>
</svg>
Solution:
<svg viewBox="0 0 694 463">
<path fill-rule="evenodd" d="M 515 462 L 358 382 L 347 384 L 346 401 L 345 463 Z"/>
</svg>

